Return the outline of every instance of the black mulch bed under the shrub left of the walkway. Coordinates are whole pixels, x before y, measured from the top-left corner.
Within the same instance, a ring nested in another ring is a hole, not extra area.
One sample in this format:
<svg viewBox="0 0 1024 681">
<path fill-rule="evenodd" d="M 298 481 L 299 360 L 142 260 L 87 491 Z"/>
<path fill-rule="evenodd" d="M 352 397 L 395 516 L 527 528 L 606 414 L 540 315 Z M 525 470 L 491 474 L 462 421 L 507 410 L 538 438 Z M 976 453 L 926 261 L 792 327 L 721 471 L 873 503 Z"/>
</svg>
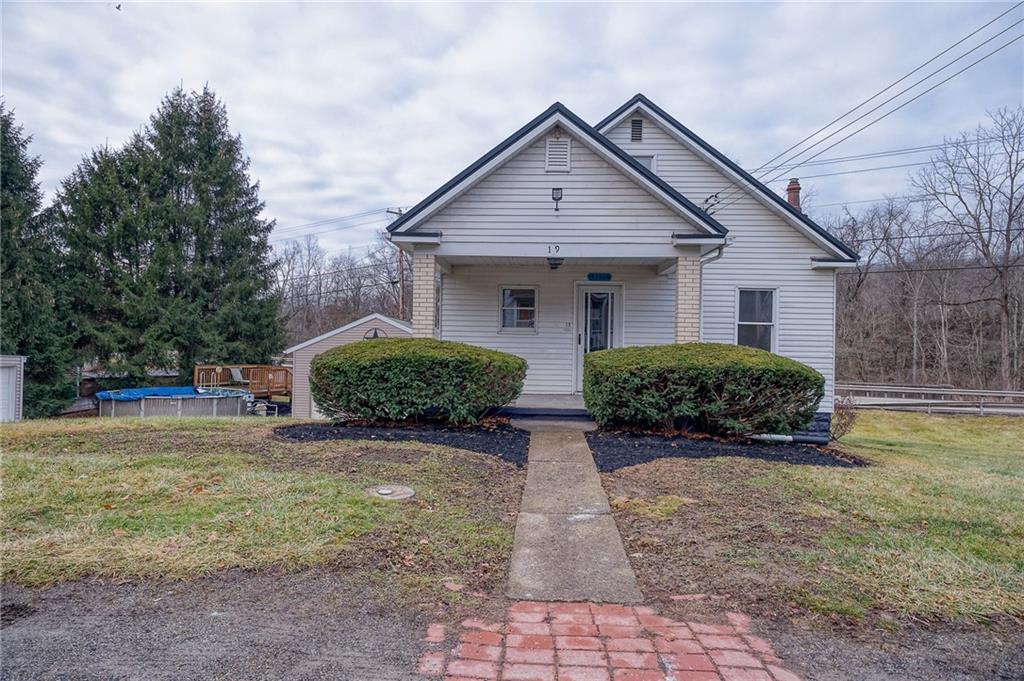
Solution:
<svg viewBox="0 0 1024 681">
<path fill-rule="evenodd" d="M 310 442 L 331 439 L 366 439 L 380 442 L 426 442 L 479 454 L 489 454 L 520 468 L 526 463 L 529 433 L 505 424 L 452 428 L 437 425 L 410 427 L 335 426 L 313 423 L 274 428 L 285 439 Z"/>
</svg>

